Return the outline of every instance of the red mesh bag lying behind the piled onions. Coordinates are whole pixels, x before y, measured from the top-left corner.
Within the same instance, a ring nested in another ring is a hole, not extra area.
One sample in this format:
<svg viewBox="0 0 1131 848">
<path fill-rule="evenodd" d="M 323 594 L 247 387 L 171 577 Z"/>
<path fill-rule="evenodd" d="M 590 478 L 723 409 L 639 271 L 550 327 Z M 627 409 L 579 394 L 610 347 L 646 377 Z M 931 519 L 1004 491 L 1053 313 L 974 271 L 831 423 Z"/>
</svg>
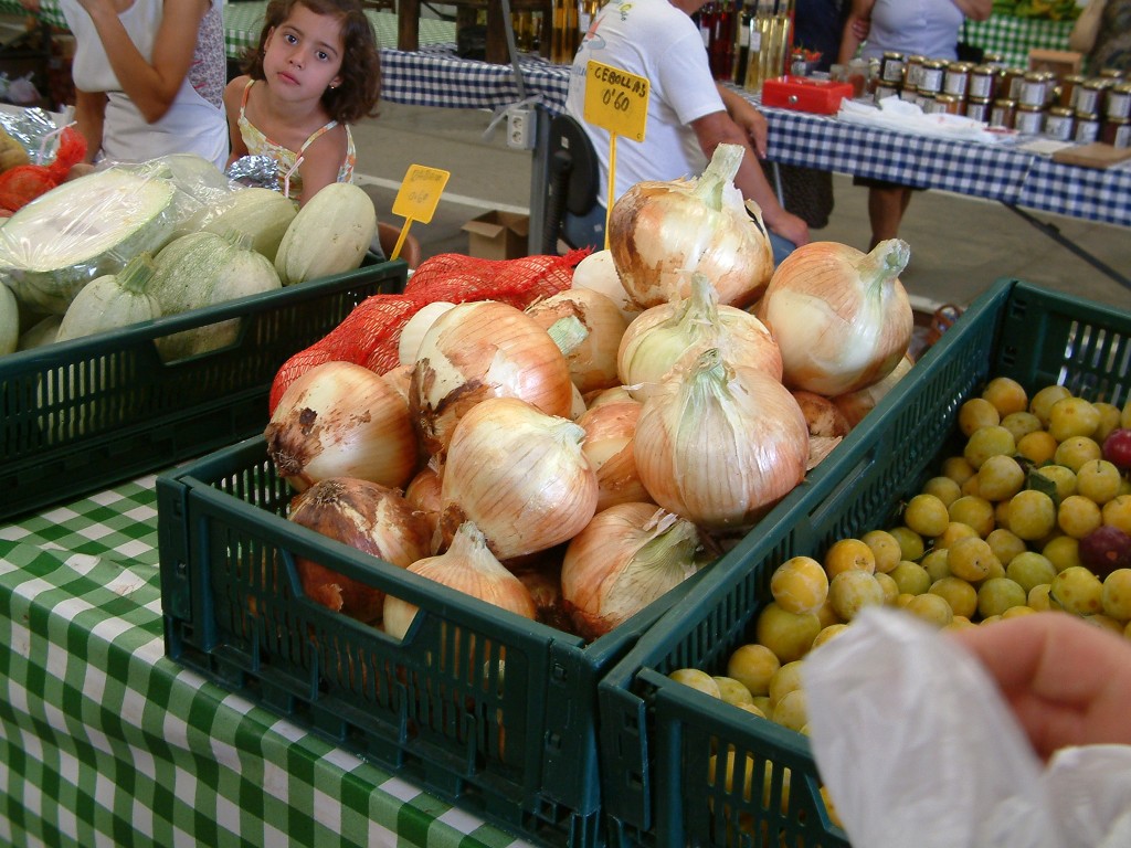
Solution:
<svg viewBox="0 0 1131 848">
<path fill-rule="evenodd" d="M 425 259 L 413 272 L 404 294 L 375 294 L 362 301 L 326 337 L 300 351 L 278 370 L 268 401 L 275 412 L 287 387 L 316 365 L 352 362 L 383 374 L 399 365 L 400 328 L 422 306 L 435 301 L 500 301 L 525 309 L 535 301 L 563 292 L 573 279 L 573 268 L 589 250 L 564 257 L 534 256 L 521 259 L 476 259 L 440 253 Z"/>
</svg>

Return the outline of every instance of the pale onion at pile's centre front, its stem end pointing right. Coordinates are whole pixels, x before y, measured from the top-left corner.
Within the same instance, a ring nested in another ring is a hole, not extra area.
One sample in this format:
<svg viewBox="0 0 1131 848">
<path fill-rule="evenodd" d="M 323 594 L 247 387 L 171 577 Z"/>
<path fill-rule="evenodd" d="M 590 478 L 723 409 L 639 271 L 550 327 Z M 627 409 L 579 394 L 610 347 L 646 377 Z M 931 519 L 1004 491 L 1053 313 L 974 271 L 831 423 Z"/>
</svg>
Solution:
<svg viewBox="0 0 1131 848">
<path fill-rule="evenodd" d="M 597 507 L 585 431 L 515 398 L 474 406 L 452 434 L 441 486 L 444 538 L 474 521 L 500 560 L 573 537 Z"/>
</svg>

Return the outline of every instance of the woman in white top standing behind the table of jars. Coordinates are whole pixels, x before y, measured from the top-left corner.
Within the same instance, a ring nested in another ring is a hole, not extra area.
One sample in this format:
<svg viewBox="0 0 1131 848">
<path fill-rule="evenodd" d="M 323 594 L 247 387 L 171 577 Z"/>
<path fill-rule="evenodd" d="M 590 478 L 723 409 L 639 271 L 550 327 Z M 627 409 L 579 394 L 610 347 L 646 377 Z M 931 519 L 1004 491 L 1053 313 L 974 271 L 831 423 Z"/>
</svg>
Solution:
<svg viewBox="0 0 1131 848">
<path fill-rule="evenodd" d="M 840 42 L 840 62 L 848 62 L 861 45 L 860 32 L 867 32 L 861 51 L 867 59 L 888 51 L 929 59 L 956 59 L 958 33 L 965 18 L 985 20 L 993 0 L 853 0 Z M 857 26 L 866 23 L 869 28 Z M 899 223 L 912 200 L 906 185 L 881 180 L 857 179 L 869 187 L 867 216 L 875 246 L 899 234 Z"/>
</svg>

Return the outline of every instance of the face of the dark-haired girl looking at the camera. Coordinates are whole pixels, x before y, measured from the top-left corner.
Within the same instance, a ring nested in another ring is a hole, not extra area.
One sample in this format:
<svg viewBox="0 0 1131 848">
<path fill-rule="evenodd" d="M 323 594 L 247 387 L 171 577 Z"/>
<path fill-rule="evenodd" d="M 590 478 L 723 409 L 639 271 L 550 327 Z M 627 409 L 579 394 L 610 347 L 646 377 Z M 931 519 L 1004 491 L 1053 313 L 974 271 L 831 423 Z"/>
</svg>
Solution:
<svg viewBox="0 0 1131 848">
<path fill-rule="evenodd" d="M 338 71 L 344 52 L 340 20 L 296 3 L 267 36 L 264 76 L 271 90 L 284 97 L 321 97 L 328 87 L 342 83 Z"/>
</svg>

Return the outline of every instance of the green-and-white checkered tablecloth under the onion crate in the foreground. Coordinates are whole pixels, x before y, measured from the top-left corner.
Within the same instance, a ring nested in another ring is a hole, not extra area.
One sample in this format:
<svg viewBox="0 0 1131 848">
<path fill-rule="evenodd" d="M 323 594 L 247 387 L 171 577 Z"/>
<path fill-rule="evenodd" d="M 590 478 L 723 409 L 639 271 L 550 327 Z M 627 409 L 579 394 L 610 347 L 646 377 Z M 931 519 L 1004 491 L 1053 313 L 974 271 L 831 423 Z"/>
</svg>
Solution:
<svg viewBox="0 0 1131 848">
<path fill-rule="evenodd" d="M 525 845 L 166 658 L 152 476 L 0 526 L 0 845 Z"/>
</svg>

